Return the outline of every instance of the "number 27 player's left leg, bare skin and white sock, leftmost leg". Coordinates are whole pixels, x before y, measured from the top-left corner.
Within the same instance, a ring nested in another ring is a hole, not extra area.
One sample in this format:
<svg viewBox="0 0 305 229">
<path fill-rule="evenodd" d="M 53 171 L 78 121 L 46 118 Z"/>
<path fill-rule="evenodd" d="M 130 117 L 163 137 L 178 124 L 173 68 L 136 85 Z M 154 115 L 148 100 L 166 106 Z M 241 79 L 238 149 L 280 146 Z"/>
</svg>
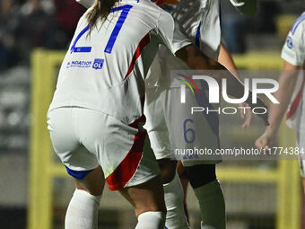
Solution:
<svg viewBox="0 0 305 229">
<path fill-rule="evenodd" d="M 74 181 L 76 189 L 66 210 L 65 229 L 98 228 L 98 210 L 105 186 L 100 166 L 89 172 L 83 180 Z"/>
</svg>

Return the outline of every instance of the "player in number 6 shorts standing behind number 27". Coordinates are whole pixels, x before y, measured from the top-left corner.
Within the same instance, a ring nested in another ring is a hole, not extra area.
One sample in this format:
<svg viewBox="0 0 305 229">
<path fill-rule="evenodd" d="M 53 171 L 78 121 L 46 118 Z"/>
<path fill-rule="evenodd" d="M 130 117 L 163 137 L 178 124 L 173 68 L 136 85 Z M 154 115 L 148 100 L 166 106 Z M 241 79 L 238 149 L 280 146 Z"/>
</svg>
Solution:
<svg viewBox="0 0 305 229">
<path fill-rule="evenodd" d="M 158 1 L 158 3 L 160 2 L 162 1 Z M 252 15 L 256 11 L 256 1 L 231 1 L 231 3 L 234 4 L 241 13 Z M 174 19 L 179 22 L 187 37 L 208 57 L 215 60 L 220 57 L 219 62 L 222 63 L 222 65 L 230 70 L 236 70 L 229 53 L 221 43 L 220 1 L 180 0 L 178 3 L 172 6 L 166 6 L 165 8 L 168 9 Z M 180 111 L 175 112 L 172 111 L 172 109 L 170 110 L 167 104 L 173 103 L 169 98 L 172 97 L 170 94 L 172 95 L 175 93 L 173 92 L 175 91 L 175 86 L 170 86 L 171 88 L 169 89 L 169 77 L 164 77 L 165 75 L 169 76 L 170 71 L 173 69 L 187 69 L 187 66 L 173 57 L 167 50 L 163 49 L 164 48 L 159 52 L 160 63 L 153 65 L 152 74 L 146 82 L 147 95 L 144 109 L 147 123 L 145 128 L 148 130 L 154 154 L 161 167 L 161 181 L 163 182 L 167 209 L 168 211 L 170 209 L 172 215 L 176 215 L 180 219 L 180 221 L 173 220 L 172 223 L 170 223 L 170 220 L 167 218 L 167 226 L 169 228 L 187 228 L 183 206 L 181 205 L 181 201 L 183 200 L 181 185 L 175 173 L 176 162 L 170 161 L 170 136 L 171 144 L 174 140 L 179 143 L 183 141 L 183 139 L 180 138 L 176 139 L 175 133 L 182 132 L 176 127 L 183 122 L 183 119 L 187 119 L 187 117 L 174 119 L 175 116 L 178 116 L 177 113 L 180 113 Z M 158 64 L 161 65 L 159 71 Z M 155 80 L 155 77 L 160 77 L 157 83 L 153 81 Z M 155 87 L 155 84 L 158 86 Z M 177 96 L 179 95 L 177 94 Z M 170 112 L 174 114 L 170 115 Z M 205 120 L 203 120 L 205 119 L 204 117 L 201 118 L 202 121 L 199 119 L 196 119 L 196 124 L 205 122 Z M 243 127 L 248 127 L 250 119 L 251 117 L 247 115 Z M 194 144 L 197 148 L 204 148 L 208 145 L 210 145 L 211 148 L 218 147 L 218 124 L 215 124 L 218 120 L 217 115 L 213 116 L 213 120 L 214 123 L 210 126 L 206 125 L 205 128 L 202 128 L 203 125 L 196 125 L 196 127 L 193 128 L 196 129 L 196 138 L 199 139 L 199 142 Z M 211 126 L 217 126 L 217 128 L 212 129 L 210 128 Z M 175 148 L 180 147 L 176 146 Z M 187 148 L 187 146 L 183 146 L 182 148 Z M 197 159 L 184 160 L 182 162 L 187 166 L 188 179 L 195 191 L 196 198 L 198 199 L 202 216 L 202 228 L 225 228 L 224 199 L 222 189 L 215 174 L 215 163 L 219 162 L 221 161 L 202 161 Z"/>
</svg>

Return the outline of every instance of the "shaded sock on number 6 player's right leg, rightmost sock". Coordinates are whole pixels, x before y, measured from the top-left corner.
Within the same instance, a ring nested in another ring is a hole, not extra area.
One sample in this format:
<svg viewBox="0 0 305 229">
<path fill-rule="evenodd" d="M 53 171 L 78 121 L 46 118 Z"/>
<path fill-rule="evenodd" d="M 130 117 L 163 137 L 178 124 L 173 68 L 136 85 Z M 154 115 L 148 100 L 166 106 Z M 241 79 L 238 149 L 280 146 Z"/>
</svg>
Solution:
<svg viewBox="0 0 305 229">
<path fill-rule="evenodd" d="M 201 229 L 224 229 L 225 205 L 219 182 L 209 182 L 194 192 L 201 211 Z"/>
</svg>

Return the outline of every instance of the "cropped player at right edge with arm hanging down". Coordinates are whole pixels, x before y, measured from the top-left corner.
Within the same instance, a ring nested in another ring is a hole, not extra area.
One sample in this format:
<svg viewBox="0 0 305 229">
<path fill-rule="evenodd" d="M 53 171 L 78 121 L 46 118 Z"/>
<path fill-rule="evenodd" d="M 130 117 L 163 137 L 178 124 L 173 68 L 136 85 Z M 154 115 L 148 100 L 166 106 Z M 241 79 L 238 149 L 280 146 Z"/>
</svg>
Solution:
<svg viewBox="0 0 305 229">
<path fill-rule="evenodd" d="M 270 126 L 257 138 L 258 148 L 272 147 L 277 137 L 283 116 L 288 109 L 287 125 L 297 130 L 297 146 L 300 152 L 305 149 L 305 12 L 293 23 L 282 50 L 283 74 L 279 79 L 279 90 L 274 97 L 280 104 L 270 107 Z M 300 155 L 301 177 L 305 192 L 305 156 Z"/>
</svg>

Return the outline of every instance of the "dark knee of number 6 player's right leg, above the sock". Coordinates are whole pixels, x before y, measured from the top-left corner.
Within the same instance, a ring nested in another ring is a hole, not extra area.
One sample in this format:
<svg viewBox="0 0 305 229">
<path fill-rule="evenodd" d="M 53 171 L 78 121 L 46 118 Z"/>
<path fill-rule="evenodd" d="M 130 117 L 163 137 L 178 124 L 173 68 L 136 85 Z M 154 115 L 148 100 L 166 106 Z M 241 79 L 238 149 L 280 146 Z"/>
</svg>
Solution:
<svg viewBox="0 0 305 229">
<path fill-rule="evenodd" d="M 193 189 L 215 181 L 215 164 L 199 164 L 187 167 L 187 177 Z"/>
</svg>

